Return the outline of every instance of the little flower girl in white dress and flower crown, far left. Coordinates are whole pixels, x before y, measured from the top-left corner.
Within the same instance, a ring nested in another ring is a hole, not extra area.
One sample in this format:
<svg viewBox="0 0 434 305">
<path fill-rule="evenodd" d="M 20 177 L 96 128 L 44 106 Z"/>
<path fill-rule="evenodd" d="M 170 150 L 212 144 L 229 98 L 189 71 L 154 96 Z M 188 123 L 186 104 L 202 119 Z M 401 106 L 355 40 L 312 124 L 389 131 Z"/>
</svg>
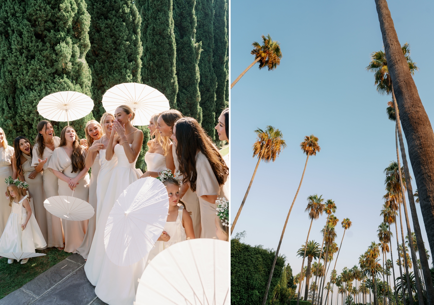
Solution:
<svg viewBox="0 0 434 305">
<path fill-rule="evenodd" d="M 5 182 L 12 212 L 0 238 L 0 253 L 35 253 L 35 249 L 45 248 L 47 244 L 24 191 L 28 184 L 18 179 L 13 180 L 12 177 L 6 178 Z M 28 260 L 22 259 L 21 263 L 25 264 Z M 7 262 L 12 264 L 13 259 L 8 259 Z"/>
</svg>

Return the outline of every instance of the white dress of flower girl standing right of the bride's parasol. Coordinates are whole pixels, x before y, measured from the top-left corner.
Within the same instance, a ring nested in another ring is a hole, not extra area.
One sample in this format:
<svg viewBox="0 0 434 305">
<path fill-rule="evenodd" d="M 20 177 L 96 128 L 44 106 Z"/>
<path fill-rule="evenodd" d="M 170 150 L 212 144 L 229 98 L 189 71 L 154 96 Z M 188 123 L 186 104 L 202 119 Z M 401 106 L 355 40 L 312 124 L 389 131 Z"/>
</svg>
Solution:
<svg viewBox="0 0 434 305">
<path fill-rule="evenodd" d="M 151 250 L 148 256 L 148 261 L 146 262 L 146 266 L 148 265 L 149 261 L 154 259 L 155 256 L 157 256 L 158 253 L 163 251 L 164 249 L 167 249 L 168 247 L 174 245 L 175 243 L 182 242 L 187 239 L 187 236 L 185 234 L 184 226 L 182 226 L 182 213 L 184 211 L 184 207 L 179 207 L 178 209 L 178 216 L 176 216 L 175 221 L 166 221 L 166 224 L 164 225 L 163 231 L 166 231 L 168 235 L 170 236 L 170 239 L 168 242 L 164 242 L 162 240 L 157 240 L 155 242 L 154 248 Z"/>
</svg>

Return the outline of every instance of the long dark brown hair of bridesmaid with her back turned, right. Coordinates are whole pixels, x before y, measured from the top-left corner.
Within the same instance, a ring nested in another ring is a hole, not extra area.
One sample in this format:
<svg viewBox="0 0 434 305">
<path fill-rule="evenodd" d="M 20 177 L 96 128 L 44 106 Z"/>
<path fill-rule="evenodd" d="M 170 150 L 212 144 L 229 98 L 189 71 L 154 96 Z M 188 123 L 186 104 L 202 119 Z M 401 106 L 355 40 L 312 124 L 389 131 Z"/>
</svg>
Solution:
<svg viewBox="0 0 434 305">
<path fill-rule="evenodd" d="M 224 175 L 229 174 L 229 168 L 204 128 L 194 118 L 181 118 L 175 127 L 179 171 L 184 175 L 182 183 L 190 182 L 191 190 L 196 191 L 196 154 L 200 150 L 210 162 L 218 184 L 224 184 Z"/>
</svg>

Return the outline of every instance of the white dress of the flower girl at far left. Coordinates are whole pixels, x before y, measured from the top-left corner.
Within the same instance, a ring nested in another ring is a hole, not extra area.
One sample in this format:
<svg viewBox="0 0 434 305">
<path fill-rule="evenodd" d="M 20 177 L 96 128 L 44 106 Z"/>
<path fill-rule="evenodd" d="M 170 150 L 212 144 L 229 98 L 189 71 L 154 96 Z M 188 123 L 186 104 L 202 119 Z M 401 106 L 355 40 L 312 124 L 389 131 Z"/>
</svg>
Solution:
<svg viewBox="0 0 434 305">
<path fill-rule="evenodd" d="M 0 252 L 36 252 L 35 249 L 47 246 L 44 236 L 39 229 L 33 213 L 27 222 L 26 229 L 21 230 L 21 224 L 26 222 L 27 210 L 23 207 L 23 201 L 12 203 L 12 212 L 9 215 L 5 230 L 0 238 Z"/>
</svg>

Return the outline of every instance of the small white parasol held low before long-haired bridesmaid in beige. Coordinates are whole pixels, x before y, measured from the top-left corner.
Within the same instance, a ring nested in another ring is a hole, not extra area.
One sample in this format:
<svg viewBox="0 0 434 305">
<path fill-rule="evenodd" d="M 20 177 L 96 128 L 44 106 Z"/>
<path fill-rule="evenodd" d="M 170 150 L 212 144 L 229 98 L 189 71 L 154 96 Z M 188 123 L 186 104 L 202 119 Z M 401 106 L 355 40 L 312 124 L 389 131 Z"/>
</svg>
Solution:
<svg viewBox="0 0 434 305">
<path fill-rule="evenodd" d="M 95 214 L 86 201 L 72 196 L 53 196 L 44 201 L 44 207 L 54 216 L 66 220 L 86 220 Z"/>
</svg>

